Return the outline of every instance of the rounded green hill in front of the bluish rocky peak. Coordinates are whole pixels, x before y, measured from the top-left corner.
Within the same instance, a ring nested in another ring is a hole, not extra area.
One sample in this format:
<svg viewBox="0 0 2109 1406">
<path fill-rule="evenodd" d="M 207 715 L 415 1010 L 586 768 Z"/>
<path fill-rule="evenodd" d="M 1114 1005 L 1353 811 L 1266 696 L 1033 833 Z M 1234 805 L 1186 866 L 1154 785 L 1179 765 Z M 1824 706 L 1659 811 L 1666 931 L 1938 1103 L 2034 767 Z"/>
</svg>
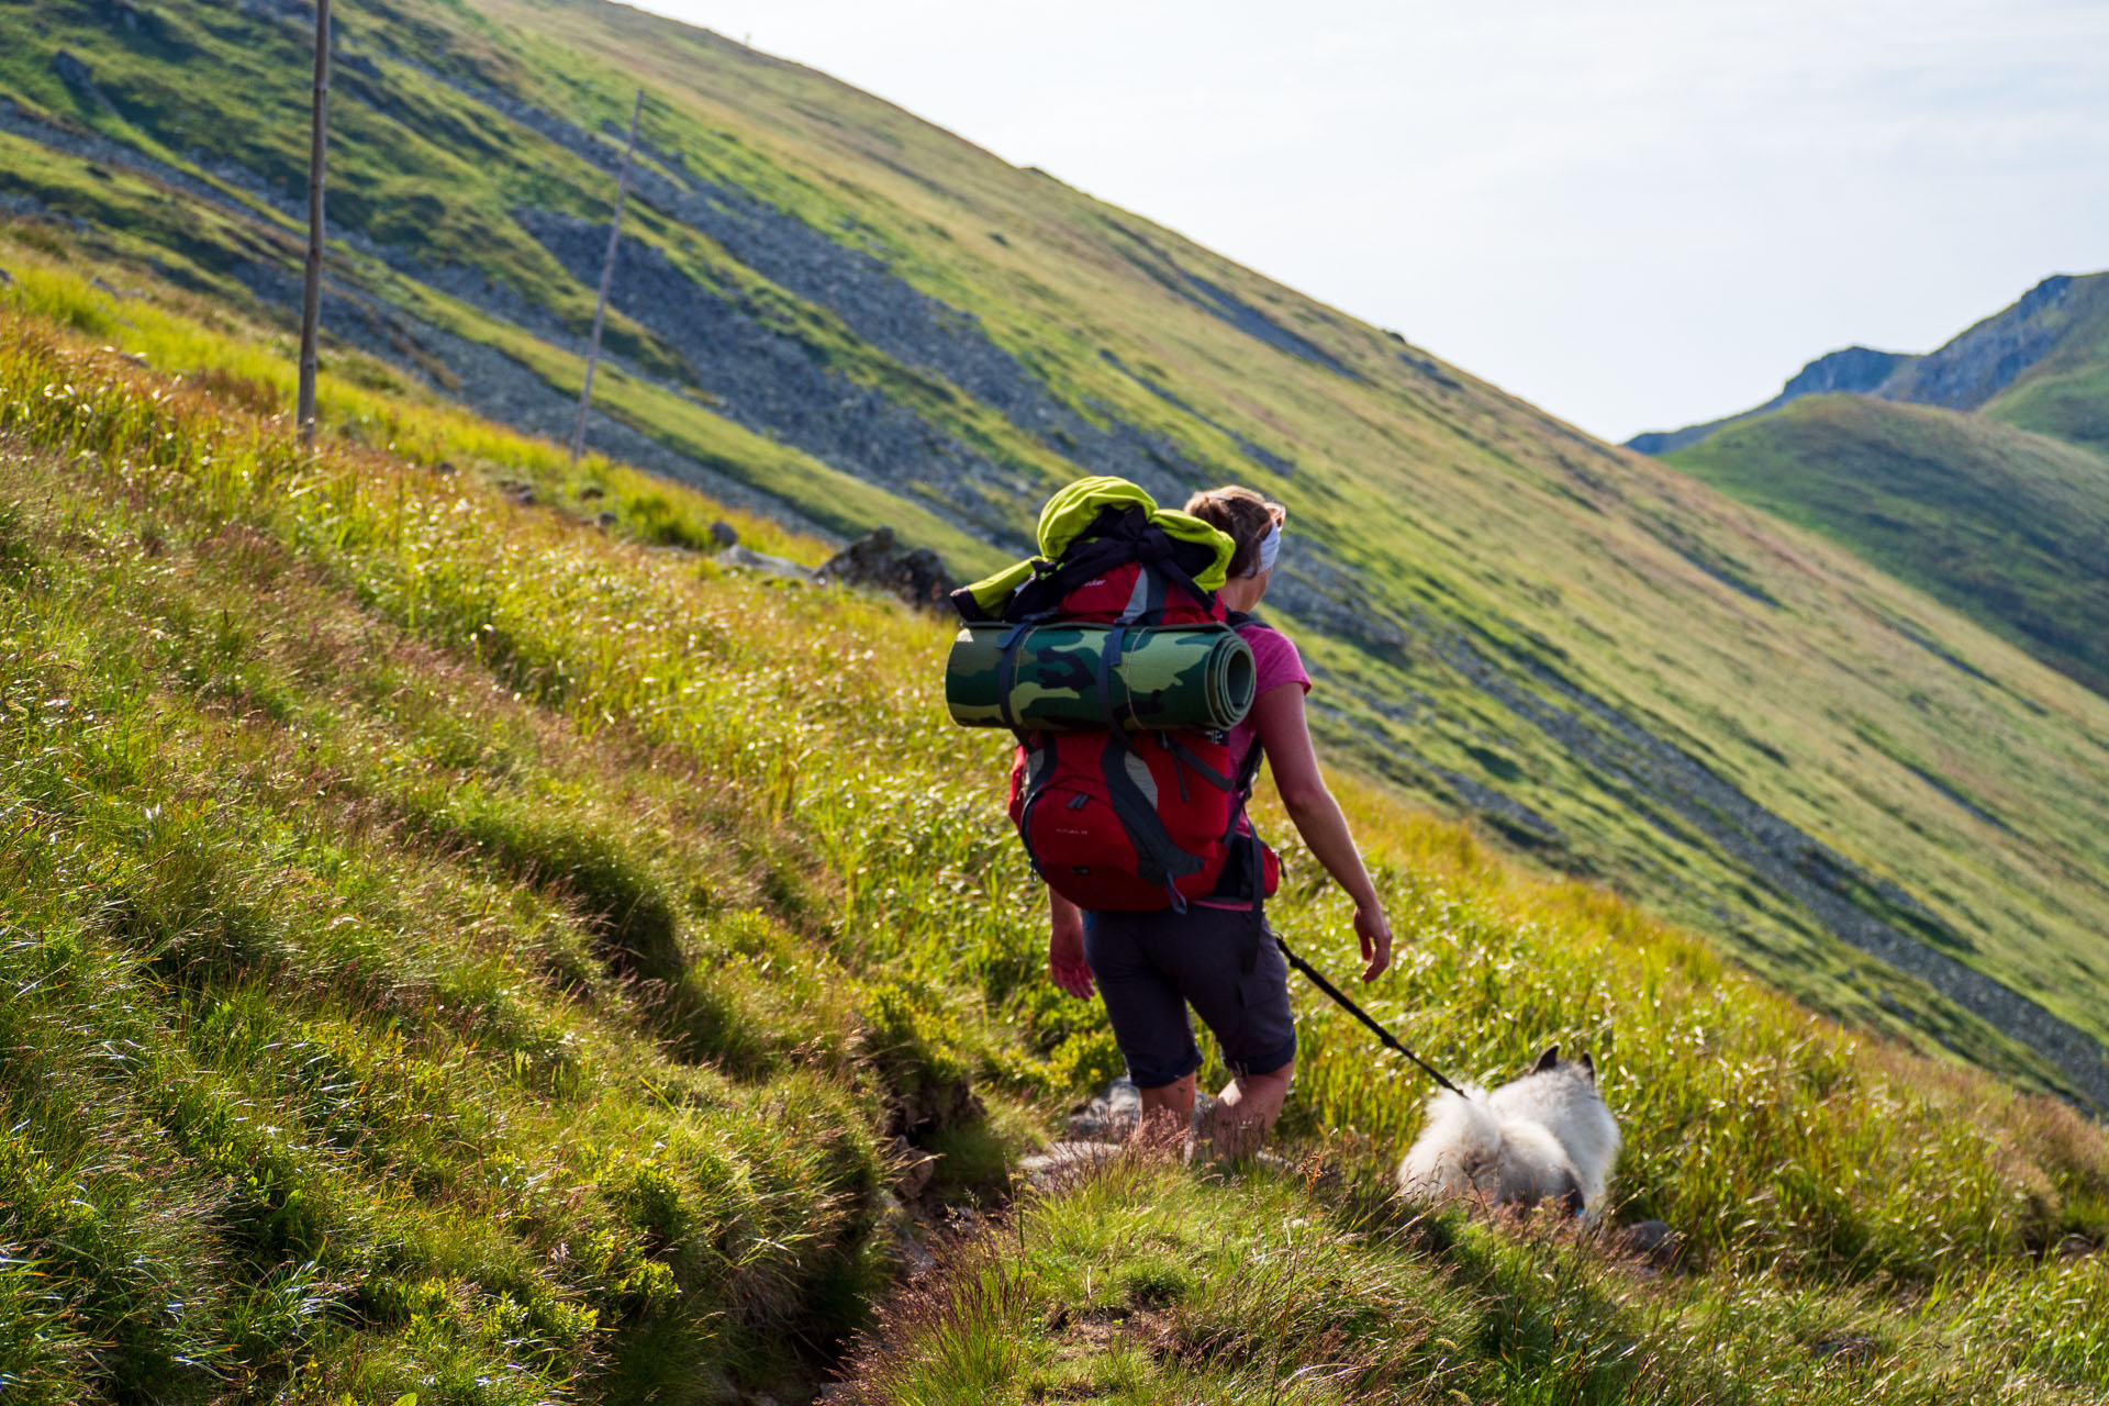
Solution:
<svg viewBox="0 0 2109 1406">
<path fill-rule="evenodd" d="M 2109 460 L 1985 415 L 1816 396 L 1668 462 L 2109 694 Z"/>
</svg>

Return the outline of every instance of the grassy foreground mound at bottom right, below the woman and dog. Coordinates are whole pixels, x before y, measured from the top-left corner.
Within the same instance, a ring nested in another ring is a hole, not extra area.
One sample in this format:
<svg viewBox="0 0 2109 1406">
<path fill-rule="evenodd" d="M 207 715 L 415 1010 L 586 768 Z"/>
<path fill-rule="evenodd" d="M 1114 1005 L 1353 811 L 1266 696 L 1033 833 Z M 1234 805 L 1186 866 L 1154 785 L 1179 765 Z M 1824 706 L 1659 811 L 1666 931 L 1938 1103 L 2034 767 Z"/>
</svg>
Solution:
<svg viewBox="0 0 2109 1406">
<path fill-rule="evenodd" d="M 854 1402 L 2092 1402 L 2101 1258 L 1917 1296 L 1670 1273 L 1548 1223 L 1417 1214 L 1356 1178 L 1128 1155 L 898 1294 Z"/>
</svg>

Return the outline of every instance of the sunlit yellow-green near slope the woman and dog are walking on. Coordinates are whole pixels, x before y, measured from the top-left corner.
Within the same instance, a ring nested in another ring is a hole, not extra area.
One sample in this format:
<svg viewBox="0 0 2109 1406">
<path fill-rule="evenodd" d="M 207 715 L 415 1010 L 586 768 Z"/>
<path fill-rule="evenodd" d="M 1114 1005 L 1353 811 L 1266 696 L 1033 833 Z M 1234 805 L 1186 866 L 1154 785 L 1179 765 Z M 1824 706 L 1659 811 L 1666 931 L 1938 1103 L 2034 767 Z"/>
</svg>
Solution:
<svg viewBox="0 0 2109 1406">
<path fill-rule="evenodd" d="M 1141 1159 L 890 1294 L 1111 1062 L 947 630 L 359 356 L 302 455 L 268 331 L 8 259 L 11 1402 L 793 1400 L 858 1326 L 852 1395 L 917 1406 L 2109 1393 L 2098 1128 L 1350 778 L 1371 1005 L 1464 1077 L 1590 1048 L 1683 1267 L 1388 1202 L 1424 1086 L 1301 993 L 1308 1176 Z M 1295 850 L 1276 919 L 1343 965 Z"/>
</svg>

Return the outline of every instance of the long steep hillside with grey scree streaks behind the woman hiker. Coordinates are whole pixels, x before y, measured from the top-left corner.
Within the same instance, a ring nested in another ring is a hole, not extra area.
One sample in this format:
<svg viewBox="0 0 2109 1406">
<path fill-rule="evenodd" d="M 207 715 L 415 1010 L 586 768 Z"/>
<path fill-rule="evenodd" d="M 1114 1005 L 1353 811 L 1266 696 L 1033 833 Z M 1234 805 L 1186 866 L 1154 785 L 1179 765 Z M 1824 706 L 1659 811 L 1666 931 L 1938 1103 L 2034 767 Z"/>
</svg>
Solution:
<svg viewBox="0 0 2109 1406">
<path fill-rule="evenodd" d="M 0 198 L 53 257 L 129 261 L 118 289 L 283 327 L 299 21 L 0 6 Z M 1824 1010 L 2109 1105 L 2098 696 L 1396 333 L 717 36 L 354 2 L 337 78 L 325 320 L 386 363 L 346 360 L 369 382 L 569 422 L 641 82 L 597 447 L 814 533 L 888 521 L 962 571 L 1078 472 L 1251 481 L 1293 508 L 1270 605 L 1331 746 Z M 80 316 L 209 360 L 137 304 Z M 348 390 L 325 419 L 401 441 Z"/>
</svg>

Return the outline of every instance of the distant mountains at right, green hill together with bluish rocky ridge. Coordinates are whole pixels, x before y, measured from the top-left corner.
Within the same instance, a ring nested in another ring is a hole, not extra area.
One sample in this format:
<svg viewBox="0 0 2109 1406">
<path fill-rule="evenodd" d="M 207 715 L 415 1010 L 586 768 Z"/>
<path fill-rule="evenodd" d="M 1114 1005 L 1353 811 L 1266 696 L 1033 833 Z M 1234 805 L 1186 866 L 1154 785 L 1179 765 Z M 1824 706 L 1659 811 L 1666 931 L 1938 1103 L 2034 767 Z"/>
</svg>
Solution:
<svg viewBox="0 0 2109 1406">
<path fill-rule="evenodd" d="M 1755 411 L 1632 443 L 2109 694 L 2109 274 L 2046 278 L 1926 356 L 1837 352 Z"/>
</svg>

